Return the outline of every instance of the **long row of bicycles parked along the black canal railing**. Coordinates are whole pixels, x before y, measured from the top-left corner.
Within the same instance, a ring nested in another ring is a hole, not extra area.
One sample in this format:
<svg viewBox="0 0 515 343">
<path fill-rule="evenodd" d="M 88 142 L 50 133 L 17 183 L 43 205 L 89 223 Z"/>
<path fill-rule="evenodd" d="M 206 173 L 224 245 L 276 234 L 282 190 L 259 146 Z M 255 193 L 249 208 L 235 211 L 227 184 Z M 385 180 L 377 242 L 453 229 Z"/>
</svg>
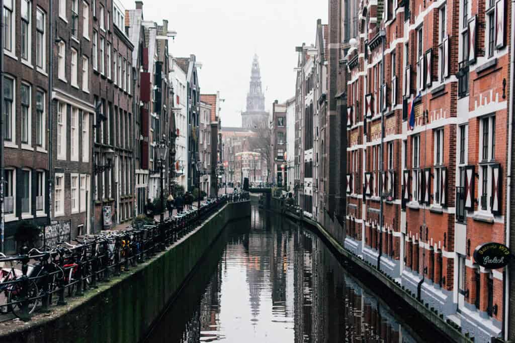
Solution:
<svg viewBox="0 0 515 343">
<path fill-rule="evenodd" d="M 78 244 L 21 248 L 21 254 L 0 253 L 0 314 L 30 320 L 35 311 L 66 304 L 98 282 L 127 272 L 177 242 L 227 202 L 248 199 L 248 193 L 227 194 L 158 222 L 133 223 L 122 231 L 77 238 Z"/>
</svg>

